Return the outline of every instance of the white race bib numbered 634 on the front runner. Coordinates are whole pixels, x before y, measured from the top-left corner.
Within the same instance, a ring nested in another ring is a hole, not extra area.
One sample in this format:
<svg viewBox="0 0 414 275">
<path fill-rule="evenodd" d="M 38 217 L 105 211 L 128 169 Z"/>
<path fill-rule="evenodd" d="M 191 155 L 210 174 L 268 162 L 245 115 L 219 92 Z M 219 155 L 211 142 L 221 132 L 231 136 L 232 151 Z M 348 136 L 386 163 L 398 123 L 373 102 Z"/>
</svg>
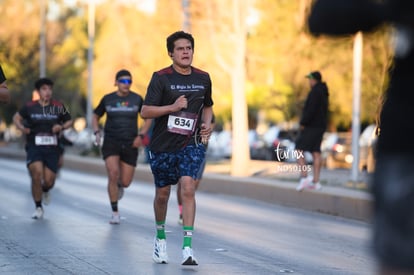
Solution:
<svg viewBox="0 0 414 275">
<path fill-rule="evenodd" d="M 168 132 L 189 136 L 194 133 L 197 124 L 197 114 L 175 112 L 168 116 Z"/>
</svg>

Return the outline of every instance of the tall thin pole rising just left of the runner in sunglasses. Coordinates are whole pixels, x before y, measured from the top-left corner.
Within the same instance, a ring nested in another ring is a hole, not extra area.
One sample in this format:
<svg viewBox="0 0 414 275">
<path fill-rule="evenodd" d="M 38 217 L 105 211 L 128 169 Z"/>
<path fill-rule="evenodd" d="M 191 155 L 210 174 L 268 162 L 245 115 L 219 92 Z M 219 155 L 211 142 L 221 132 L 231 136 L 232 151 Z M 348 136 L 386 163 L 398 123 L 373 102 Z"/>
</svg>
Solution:
<svg viewBox="0 0 414 275">
<path fill-rule="evenodd" d="M 88 1 L 88 97 L 86 103 L 86 123 L 92 129 L 92 76 L 93 76 L 93 47 L 95 39 L 95 1 Z"/>
</svg>

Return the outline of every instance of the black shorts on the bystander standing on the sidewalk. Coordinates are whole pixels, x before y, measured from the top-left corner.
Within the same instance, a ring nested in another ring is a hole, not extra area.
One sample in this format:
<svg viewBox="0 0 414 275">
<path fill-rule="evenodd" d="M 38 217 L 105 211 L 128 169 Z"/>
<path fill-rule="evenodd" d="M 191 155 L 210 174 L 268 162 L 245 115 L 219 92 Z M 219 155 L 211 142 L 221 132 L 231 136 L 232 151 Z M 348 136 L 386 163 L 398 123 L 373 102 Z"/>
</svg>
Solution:
<svg viewBox="0 0 414 275">
<path fill-rule="evenodd" d="M 325 129 L 305 127 L 296 139 L 296 150 L 320 152 Z"/>
</svg>

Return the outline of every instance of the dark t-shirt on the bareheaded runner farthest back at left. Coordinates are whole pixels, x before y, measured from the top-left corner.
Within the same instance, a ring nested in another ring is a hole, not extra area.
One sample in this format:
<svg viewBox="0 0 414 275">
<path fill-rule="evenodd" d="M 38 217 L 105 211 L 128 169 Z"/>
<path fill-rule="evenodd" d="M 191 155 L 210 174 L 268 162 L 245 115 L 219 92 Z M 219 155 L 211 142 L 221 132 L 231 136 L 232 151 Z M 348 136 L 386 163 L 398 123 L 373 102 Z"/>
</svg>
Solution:
<svg viewBox="0 0 414 275">
<path fill-rule="evenodd" d="M 25 127 L 30 129 L 26 136 L 29 145 L 35 144 L 36 135 L 52 135 L 53 125 L 72 119 L 66 107 L 57 100 L 51 100 L 47 106 L 40 105 L 38 100 L 30 101 L 19 110 L 19 114 Z"/>
</svg>

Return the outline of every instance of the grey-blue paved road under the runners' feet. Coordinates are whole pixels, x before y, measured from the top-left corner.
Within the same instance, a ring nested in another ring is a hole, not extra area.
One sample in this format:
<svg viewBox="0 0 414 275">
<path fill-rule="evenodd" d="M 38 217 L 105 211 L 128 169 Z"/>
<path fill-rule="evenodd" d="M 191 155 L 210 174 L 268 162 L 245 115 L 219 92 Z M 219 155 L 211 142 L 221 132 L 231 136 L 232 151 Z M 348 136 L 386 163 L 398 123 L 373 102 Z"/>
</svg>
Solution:
<svg viewBox="0 0 414 275">
<path fill-rule="evenodd" d="M 375 274 L 364 222 L 201 191 L 193 240 L 200 265 L 184 268 L 174 196 L 171 261 L 152 262 L 151 184 L 126 190 L 114 226 L 102 175 L 63 169 L 40 221 L 30 219 L 23 161 L 0 159 L 0 182 L 1 274 Z"/>
</svg>

